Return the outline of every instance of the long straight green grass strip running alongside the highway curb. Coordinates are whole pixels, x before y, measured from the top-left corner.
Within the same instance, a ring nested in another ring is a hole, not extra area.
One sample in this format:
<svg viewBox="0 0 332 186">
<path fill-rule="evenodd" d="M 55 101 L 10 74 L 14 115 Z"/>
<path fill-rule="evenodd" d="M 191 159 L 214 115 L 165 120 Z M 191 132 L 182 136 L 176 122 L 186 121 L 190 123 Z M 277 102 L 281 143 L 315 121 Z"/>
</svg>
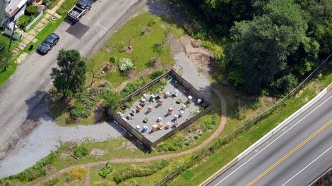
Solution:
<svg viewBox="0 0 332 186">
<path fill-rule="evenodd" d="M 182 173 L 183 176 L 178 176 L 172 180 L 169 185 L 193 185 L 193 183 L 195 183 L 194 185 L 199 185 L 232 159 L 235 159 L 238 154 L 250 147 L 251 144 L 254 144 L 254 142 L 263 137 L 263 135 L 266 135 L 267 132 L 275 128 L 276 125 L 283 122 L 283 120 L 292 115 L 292 113 L 300 109 L 331 82 L 332 70 L 330 69 L 324 71 L 316 80 L 309 82 L 295 97 L 285 101 L 284 106 L 279 107 L 271 116 L 257 123 L 247 132 L 243 132 L 242 135 L 239 135 L 229 144 L 216 150 L 214 154 L 208 156 L 204 161 L 197 163 L 194 168 Z M 228 120 L 229 118 L 227 118 L 226 126 L 229 125 Z M 190 178 L 187 176 L 189 171 L 191 175 Z"/>
</svg>

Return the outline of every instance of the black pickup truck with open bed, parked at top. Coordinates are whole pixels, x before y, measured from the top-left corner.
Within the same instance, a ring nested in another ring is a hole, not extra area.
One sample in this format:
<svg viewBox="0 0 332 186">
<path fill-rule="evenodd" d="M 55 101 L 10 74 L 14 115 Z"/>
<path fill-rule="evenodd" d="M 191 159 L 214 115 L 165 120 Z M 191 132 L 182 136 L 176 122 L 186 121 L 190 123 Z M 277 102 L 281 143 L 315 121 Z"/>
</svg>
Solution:
<svg viewBox="0 0 332 186">
<path fill-rule="evenodd" d="M 75 22 L 78 22 L 78 20 L 80 20 L 85 15 L 85 13 L 90 11 L 92 5 L 93 0 L 78 1 L 78 3 L 68 12 L 67 17 Z"/>
</svg>

